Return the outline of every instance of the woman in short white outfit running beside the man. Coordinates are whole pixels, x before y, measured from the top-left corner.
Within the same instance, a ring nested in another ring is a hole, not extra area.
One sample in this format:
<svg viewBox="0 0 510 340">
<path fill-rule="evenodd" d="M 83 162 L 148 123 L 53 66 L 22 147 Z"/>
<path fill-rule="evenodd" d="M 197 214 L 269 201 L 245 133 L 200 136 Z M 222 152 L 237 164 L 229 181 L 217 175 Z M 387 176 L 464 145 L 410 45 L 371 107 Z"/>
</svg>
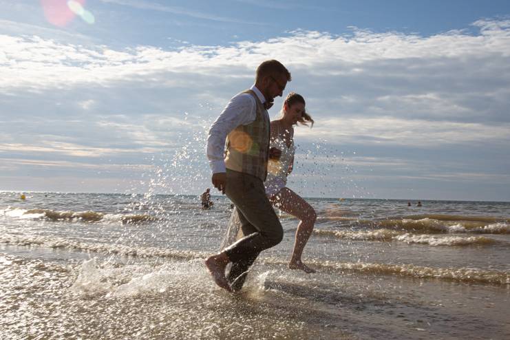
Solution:
<svg viewBox="0 0 510 340">
<path fill-rule="evenodd" d="M 265 185 L 270 202 L 281 211 L 299 219 L 294 251 L 288 267 L 304 270 L 306 273 L 315 273 L 315 270 L 301 262 L 301 255 L 312 234 L 317 215 L 308 202 L 286 187 L 287 176 L 292 172 L 294 163 L 294 125 L 310 123 L 313 126 L 314 123 L 312 117 L 306 113 L 305 105 L 301 95 L 290 92 L 281 109 L 281 117 L 271 122 L 270 147 L 281 150 L 281 156 L 278 160 L 269 160 Z"/>
</svg>

